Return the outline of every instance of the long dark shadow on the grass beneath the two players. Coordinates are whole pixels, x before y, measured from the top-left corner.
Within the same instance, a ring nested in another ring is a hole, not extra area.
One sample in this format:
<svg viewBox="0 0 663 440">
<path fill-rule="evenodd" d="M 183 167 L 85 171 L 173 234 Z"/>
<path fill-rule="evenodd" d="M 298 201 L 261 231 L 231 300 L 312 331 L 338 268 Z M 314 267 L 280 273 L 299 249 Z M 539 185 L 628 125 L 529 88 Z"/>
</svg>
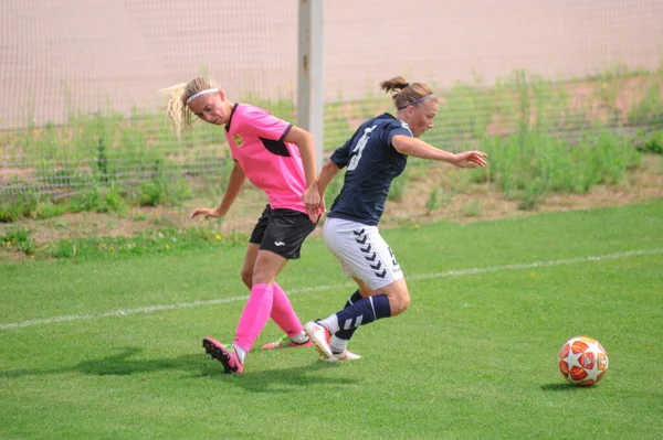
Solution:
<svg viewBox="0 0 663 440">
<path fill-rule="evenodd" d="M 220 384 L 232 384 L 253 393 L 290 393 L 296 387 L 309 385 L 352 385 L 357 380 L 345 377 L 316 375 L 316 372 L 340 367 L 337 364 L 313 362 L 305 366 L 278 369 L 248 371 L 241 375 L 229 375 L 217 361 L 204 353 L 187 354 L 173 358 L 136 359 L 143 348 L 116 348 L 119 353 L 105 357 L 83 361 L 60 368 L 11 369 L 0 372 L 0 378 L 19 378 L 53 374 L 80 373 L 93 376 L 143 375 L 164 371 L 186 372 L 188 377 L 209 378 Z M 269 353 L 267 353 L 269 354 Z M 313 353 L 312 353 L 313 354 Z M 269 362 L 263 359 L 263 362 Z"/>
</svg>

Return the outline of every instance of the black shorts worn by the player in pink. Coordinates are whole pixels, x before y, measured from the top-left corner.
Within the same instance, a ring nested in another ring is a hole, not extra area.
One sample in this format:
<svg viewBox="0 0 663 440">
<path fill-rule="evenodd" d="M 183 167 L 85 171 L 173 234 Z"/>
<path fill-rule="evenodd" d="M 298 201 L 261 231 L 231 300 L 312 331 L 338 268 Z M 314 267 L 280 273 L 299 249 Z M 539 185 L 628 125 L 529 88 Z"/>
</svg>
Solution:
<svg viewBox="0 0 663 440">
<path fill-rule="evenodd" d="M 261 250 L 270 250 L 294 260 L 299 258 L 302 244 L 316 225 L 307 214 L 294 210 L 272 210 L 267 205 L 255 224 L 249 243 L 260 245 Z"/>
</svg>

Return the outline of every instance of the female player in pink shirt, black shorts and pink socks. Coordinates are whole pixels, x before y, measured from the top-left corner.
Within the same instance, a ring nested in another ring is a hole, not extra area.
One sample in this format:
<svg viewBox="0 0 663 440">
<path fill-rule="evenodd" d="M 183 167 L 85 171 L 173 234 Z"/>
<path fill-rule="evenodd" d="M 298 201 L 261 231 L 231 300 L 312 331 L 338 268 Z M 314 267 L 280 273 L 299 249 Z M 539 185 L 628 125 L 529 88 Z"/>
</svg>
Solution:
<svg viewBox="0 0 663 440">
<path fill-rule="evenodd" d="M 246 179 L 270 200 L 251 234 L 244 257 L 242 280 L 251 294 L 232 350 L 212 337 L 203 339 L 203 347 L 223 364 L 225 373 L 242 373 L 246 354 L 270 318 L 287 337 L 263 348 L 311 346 L 302 322 L 275 278 L 288 260 L 299 258 L 302 244 L 315 229 L 323 210 L 313 137 L 262 108 L 231 103 L 209 78 L 196 77 L 165 92 L 169 96 L 168 115 L 178 137 L 190 128 L 193 115 L 206 122 L 225 126 L 225 138 L 235 161 L 220 206 L 196 208 L 191 218 L 224 216 Z"/>
</svg>

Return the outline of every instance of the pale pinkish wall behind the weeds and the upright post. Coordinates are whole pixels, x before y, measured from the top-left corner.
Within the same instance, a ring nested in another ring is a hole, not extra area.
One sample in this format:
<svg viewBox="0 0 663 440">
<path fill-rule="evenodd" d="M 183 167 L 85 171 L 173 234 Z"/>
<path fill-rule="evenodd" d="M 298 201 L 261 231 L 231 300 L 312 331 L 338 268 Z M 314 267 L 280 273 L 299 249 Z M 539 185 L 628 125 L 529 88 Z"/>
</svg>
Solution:
<svg viewBox="0 0 663 440">
<path fill-rule="evenodd" d="M 0 14 L 0 127 L 156 108 L 158 88 L 201 72 L 232 99 L 295 96 L 296 0 L 2 0 Z M 661 0 L 325 1 L 327 100 L 398 74 L 444 88 L 656 68 L 662 50 Z"/>
</svg>

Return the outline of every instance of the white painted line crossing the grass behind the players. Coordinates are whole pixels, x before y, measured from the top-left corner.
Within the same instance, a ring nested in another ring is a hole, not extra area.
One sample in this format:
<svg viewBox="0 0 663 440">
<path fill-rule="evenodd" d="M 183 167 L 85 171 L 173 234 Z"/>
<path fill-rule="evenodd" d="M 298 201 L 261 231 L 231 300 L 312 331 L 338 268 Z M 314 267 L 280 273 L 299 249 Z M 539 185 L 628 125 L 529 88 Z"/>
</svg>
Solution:
<svg viewBox="0 0 663 440">
<path fill-rule="evenodd" d="M 656 254 L 663 254 L 663 248 L 662 249 L 628 250 L 624 253 L 594 255 L 594 256 L 588 256 L 588 257 L 559 259 L 559 260 L 520 262 L 520 264 L 504 265 L 504 266 L 476 267 L 476 268 L 460 269 L 460 270 L 449 270 L 445 272 L 436 272 L 436 273 L 420 273 L 420 275 L 409 276 L 408 279 L 417 281 L 417 280 L 427 280 L 427 279 L 433 279 L 433 278 L 463 277 L 463 276 L 470 276 L 470 275 L 502 272 L 502 271 L 507 271 L 507 270 L 535 269 L 535 268 L 544 268 L 544 267 L 552 267 L 552 266 L 578 265 L 578 264 L 582 264 L 582 262 L 606 261 L 606 260 L 623 259 L 623 258 L 639 257 L 639 256 L 643 256 L 643 255 L 656 255 Z M 348 288 L 351 286 L 355 286 L 354 282 L 347 282 L 347 283 L 343 283 L 343 285 L 316 286 L 316 287 L 301 288 L 301 289 L 290 289 L 288 294 L 292 296 L 292 294 L 301 294 L 301 293 L 313 293 L 313 292 L 319 292 L 319 291 L 324 291 L 324 290 L 343 289 L 343 288 Z M 97 314 L 70 314 L 70 315 L 63 315 L 63 316 L 45 318 L 45 319 L 41 319 L 41 320 L 8 322 L 8 323 L 0 323 L 0 331 L 1 330 L 12 330 L 12 329 L 22 329 L 22 328 L 33 326 L 33 325 L 56 324 L 60 322 L 97 320 L 101 318 L 108 318 L 108 316 L 126 316 L 129 314 L 137 314 L 137 313 L 147 314 L 147 313 L 154 313 L 154 312 L 160 312 L 160 311 L 167 311 L 167 310 L 181 310 L 181 309 L 191 309 L 191 308 L 196 308 L 196 307 L 225 304 L 229 302 L 246 301 L 248 298 L 249 298 L 249 296 L 219 298 L 215 300 L 208 300 L 208 301 L 180 302 L 180 303 L 176 303 L 176 304 L 148 305 L 148 307 L 141 307 L 141 308 L 137 308 L 137 309 L 114 310 L 110 312 L 97 313 Z"/>
</svg>

